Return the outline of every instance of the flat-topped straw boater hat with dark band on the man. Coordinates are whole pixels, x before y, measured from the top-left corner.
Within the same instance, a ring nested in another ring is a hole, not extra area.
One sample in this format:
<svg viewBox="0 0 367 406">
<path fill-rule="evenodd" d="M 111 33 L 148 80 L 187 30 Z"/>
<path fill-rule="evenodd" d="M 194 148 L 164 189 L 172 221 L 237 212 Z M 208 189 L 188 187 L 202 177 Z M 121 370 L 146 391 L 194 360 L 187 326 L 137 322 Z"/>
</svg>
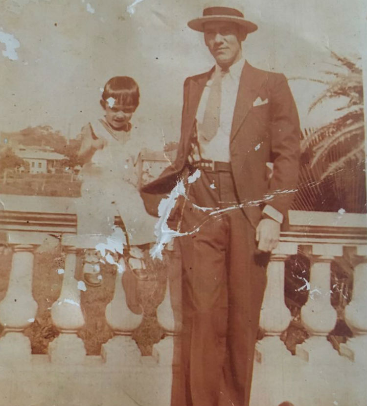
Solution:
<svg viewBox="0 0 367 406">
<path fill-rule="evenodd" d="M 187 25 L 195 31 L 204 32 L 204 24 L 211 21 L 228 21 L 241 25 L 249 33 L 256 31 L 257 25 L 245 20 L 242 5 L 236 1 L 223 0 L 220 3 L 211 1 L 206 3 L 203 10 L 203 17 L 195 18 Z"/>
</svg>

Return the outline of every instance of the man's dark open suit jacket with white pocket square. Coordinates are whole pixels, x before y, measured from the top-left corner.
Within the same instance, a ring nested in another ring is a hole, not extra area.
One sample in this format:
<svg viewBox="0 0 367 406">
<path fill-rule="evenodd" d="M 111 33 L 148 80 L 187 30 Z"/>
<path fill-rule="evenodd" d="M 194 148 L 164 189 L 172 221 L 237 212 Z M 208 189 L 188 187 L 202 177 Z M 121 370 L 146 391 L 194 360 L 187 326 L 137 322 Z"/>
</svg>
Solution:
<svg viewBox="0 0 367 406">
<path fill-rule="evenodd" d="M 188 77 L 184 82 L 181 139 L 176 161 L 141 189 L 150 214 L 157 216 L 161 198 L 182 177 L 198 105 L 212 72 L 213 69 Z M 281 212 L 286 221 L 298 181 L 299 135 L 297 107 L 285 76 L 256 69 L 246 62 L 233 113 L 229 148 L 237 194 L 253 227 L 260 221 L 265 204 Z M 267 162 L 274 164 L 270 179 Z"/>
</svg>

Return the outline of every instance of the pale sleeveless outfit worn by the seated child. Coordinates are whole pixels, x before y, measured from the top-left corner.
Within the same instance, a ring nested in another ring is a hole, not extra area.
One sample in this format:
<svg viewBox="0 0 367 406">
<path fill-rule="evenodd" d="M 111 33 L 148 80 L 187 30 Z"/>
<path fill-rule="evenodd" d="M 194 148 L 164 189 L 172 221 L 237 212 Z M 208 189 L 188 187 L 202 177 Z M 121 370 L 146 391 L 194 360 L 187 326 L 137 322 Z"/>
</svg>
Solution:
<svg viewBox="0 0 367 406">
<path fill-rule="evenodd" d="M 93 244 L 113 232 L 115 215 L 120 216 L 130 246 L 155 241 L 157 219 L 146 213 L 138 192 L 136 164 L 142 148 L 138 135 L 112 131 L 100 119 L 83 127 L 82 135 L 100 138 L 103 149 L 94 152 L 81 170 L 81 204 L 77 209 L 78 235 Z M 92 248 L 92 247 L 85 247 Z"/>
</svg>

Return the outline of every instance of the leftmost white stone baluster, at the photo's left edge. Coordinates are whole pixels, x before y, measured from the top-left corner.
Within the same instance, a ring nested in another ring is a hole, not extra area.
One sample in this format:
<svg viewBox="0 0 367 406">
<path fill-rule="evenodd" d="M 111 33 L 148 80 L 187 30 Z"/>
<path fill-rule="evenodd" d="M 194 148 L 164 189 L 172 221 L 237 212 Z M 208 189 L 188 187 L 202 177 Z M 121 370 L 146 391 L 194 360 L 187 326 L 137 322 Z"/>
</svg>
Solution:
<svg viewBox="0 0 367 406">
<path fill-rule="evenodd" d="M 31 355 L 29 339 L 19 332 L 34 321 L 37 313 L 32 296 L 33 250 L 33 245 L 13 246 L 9 286 L 0 303 L 0 322 L 7 332 L 0 342 L 1 360 L 14 356 L 26 360 Z"/>
</svg>

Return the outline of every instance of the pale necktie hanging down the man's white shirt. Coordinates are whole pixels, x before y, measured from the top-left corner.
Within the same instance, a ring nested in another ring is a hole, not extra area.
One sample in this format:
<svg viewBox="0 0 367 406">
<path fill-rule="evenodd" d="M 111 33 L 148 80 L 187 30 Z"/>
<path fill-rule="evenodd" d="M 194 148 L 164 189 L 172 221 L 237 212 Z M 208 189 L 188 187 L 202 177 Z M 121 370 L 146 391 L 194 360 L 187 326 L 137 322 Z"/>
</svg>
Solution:
<svg viewBox="0 0 367 406">
<path fill-rule="evenodd" d="M 204 118 L 202 123 L 202 133 L 206 141 L 210 141 L 217 133 L 220 124 L 219 117 L 221 112 L 222 99 L 222 79 L 228 71 L 221 71 L 215 74 L 210 86 L 210 92 Z"/>
</svg>

